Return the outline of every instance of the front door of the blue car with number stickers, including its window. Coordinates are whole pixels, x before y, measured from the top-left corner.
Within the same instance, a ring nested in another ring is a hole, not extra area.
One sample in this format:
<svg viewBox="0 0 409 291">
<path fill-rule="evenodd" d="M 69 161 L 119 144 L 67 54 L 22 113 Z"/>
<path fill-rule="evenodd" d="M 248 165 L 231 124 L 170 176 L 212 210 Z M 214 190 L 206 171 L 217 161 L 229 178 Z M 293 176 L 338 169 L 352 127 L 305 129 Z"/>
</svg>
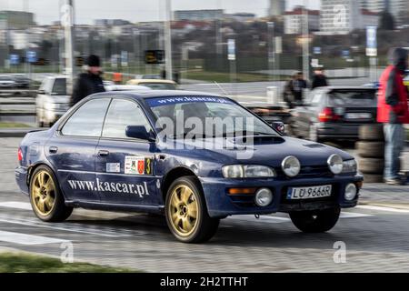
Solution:
<svg viewBox="0 0 409 291">
<path fill-rule="evenodd" d="M 157 206 L 155 142 L 129 138 L 127 125 L 151 130 L 140 105 L 115 98 L 105 117 L 103 134 L 96 148 L 96 180 L 101 201 L 106 204 Z"/>
</svg>

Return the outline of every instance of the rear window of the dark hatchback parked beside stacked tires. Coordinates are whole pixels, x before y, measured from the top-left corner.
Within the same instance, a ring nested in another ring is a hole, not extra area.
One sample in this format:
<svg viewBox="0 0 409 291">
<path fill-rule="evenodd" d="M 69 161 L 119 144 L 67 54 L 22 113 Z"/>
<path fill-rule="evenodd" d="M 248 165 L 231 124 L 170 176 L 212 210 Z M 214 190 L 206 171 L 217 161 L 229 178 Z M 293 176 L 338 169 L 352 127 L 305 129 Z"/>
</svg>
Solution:
<svg viewBox="0 0 409 291">
<path fill-rule="evenodd" d="M 333 106 L 375 106 L 375 90 L 336 90 L 329 94 L 329 103 Z"/>
</svg>

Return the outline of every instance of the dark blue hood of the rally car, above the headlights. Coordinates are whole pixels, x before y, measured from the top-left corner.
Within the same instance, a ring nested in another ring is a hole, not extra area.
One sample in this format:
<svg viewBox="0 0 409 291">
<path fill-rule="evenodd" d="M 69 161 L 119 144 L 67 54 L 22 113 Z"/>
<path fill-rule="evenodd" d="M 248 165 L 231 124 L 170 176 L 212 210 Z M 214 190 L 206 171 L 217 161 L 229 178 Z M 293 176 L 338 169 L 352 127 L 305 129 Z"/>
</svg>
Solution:
<svg viewBox="0 0 409 291">
<path fill-rule="evenodd" d="M 244 146 L 242 138 L 214 138 L 203 140 L 203 147 L 196 142 L 185 141 L 182 144 L 195 148 L 197 158 L 212 156 L 215 161 L 224 164 L 255 164 L 280 166 L 284 157 L 295 156 L 302 166 L 324 166 L 329 156 L 338 154 L 344 160 L 354 156 L 333 146 L 326 146 L 302 139 L 285 136 L 254 137 L 253 145 L 247 140 Z M 203 152 L 205 151 L 206 154 Z"/>
</svg>

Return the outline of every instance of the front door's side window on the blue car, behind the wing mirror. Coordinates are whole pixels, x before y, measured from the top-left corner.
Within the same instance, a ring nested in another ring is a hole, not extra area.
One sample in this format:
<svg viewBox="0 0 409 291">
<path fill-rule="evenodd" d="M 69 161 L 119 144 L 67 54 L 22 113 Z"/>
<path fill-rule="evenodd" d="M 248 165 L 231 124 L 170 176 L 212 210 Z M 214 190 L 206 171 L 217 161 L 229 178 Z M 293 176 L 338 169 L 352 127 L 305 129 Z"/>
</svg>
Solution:
<svg viewBox="0 0 409 291">
<path fill-rule="evenodd" d="M 125 128 L 128 125 L 143 125 L 147 131 L 151 130 L 144 112 L 135 102 L 123 99 L 113 100 L 105 118 L 103 136 L 128 138 L 125 135 Z"/>
</svg>

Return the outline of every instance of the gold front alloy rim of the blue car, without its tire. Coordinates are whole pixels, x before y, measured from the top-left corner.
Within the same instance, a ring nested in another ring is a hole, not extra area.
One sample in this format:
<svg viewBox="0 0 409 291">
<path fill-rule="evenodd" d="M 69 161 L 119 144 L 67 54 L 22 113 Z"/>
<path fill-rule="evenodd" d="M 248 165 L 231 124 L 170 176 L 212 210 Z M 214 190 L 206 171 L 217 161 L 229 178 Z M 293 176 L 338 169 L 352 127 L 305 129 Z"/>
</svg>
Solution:
<svg viewBox="0 0 409 291">
<path fill-rule="evenodd" d="M 185 185 L 176 186 L 170 197 L 169 220 L 179 236 L 189 236 L 197 225 L 198 203 L 195 193 Z"/>
</svg>

